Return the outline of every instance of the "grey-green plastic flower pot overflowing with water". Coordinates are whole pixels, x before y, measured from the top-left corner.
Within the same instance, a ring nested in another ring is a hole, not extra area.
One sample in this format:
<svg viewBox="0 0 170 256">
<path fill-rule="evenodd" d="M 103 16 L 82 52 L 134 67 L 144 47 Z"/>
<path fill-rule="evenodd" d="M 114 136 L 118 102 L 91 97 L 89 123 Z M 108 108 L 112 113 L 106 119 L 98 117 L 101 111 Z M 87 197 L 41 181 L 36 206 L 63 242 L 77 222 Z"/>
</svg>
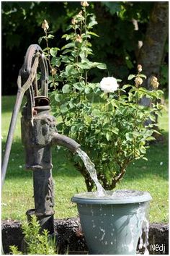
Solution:
<svg viewBox="0 0 170 256">
<path fill-rule="evenodd" d="M 152 199 L 148 192 L 107 191 L 75 195 L 81 227 L 89 254 L 135 255 L 146 210 Z"/>
</svg>

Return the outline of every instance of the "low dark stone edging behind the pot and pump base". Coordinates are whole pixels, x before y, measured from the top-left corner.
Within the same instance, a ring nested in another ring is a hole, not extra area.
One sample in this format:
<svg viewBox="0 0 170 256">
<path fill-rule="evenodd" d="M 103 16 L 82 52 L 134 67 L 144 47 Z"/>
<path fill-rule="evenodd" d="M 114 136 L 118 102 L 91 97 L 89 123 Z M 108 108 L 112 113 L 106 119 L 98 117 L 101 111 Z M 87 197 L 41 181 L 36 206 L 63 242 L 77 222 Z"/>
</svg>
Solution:
<svg viewBox="0 0 170 256">
<path fill-rule="evenodd" d="M 79 218 L 55 219 L 54 226 L 58 237 L 59 254 L 88 254 Z M 21 249 L 24 237 L 21 222 L 2 221 L 1 228 L 4 253 L 9 254 L 9 245 L 13 244 Z M 150 224 L 148 250 L 151 255 L 169 255 L 168 224 Z"/>
</svg>

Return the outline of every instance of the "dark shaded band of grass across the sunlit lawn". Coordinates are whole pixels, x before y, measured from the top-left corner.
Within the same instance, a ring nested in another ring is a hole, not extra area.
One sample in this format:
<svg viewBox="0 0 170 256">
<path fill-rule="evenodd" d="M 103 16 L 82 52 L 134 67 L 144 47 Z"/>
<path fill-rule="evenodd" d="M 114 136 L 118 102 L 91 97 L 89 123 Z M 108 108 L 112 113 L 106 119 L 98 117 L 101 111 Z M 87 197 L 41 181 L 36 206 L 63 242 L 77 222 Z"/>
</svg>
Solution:
<svg viewBox="0 0 170 256">
<path fill-rule="evenodd" d="M 2 143 L 2 150 L 5 143 Z M 151 145 L 146 155 L 148 161 L 139 160 L 132 163 L 125 174 L 125 179 L 143 179 L 147 176 L 157 176 L 168 180 L 168 133 L 164 133 L 164 142 Z M 3 158 L 3 157 L 2 157 Z M 81 176 L 79 171 L 68 161 L 66 150 L 53 148 L 53 176 Z M 13 142 L 9 158 L 6 179 L 27 178 L 32 176 L 32 171 L 24 170 L 24 147 L 19 140 Z"/>
</svg>

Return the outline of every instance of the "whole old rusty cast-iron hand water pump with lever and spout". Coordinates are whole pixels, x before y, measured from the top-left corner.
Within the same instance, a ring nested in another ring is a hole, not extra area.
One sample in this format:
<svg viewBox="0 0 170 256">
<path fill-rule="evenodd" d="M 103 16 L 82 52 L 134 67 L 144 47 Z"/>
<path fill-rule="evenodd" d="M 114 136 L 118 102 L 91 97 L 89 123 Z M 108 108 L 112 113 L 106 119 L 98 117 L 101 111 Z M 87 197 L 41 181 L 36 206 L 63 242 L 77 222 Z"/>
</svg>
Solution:
<svg viewBox="0 0 170 256">
<path fill-rule="evenodd" d="M 37 80 L 37 70 L 40 80 Z M 76 152 L 79 144 L 69 137 L 59 135 L 55 126 L 55 118 L 50 115 L 48 98 L 48 64 L 40 46 L 32 44 L 19 70 L 17 80 L 17 100 L 12 114 L 9 133 L 6 140 L 4 161 L 2 163 L 2 184 L 6 176 L 6 168 L 12 147 L 17 114 L 24 95 L 27 103 L 22 109 L 21 127 L 22 143 L 25 148 L 25 167 L 33 171 L 35 209 L 27 210 L 27 218 L 37 216 L 42 229 L 54 233 L 54 192 L 52 177 L 51 146 L 63 145 Z"/>
</svg>

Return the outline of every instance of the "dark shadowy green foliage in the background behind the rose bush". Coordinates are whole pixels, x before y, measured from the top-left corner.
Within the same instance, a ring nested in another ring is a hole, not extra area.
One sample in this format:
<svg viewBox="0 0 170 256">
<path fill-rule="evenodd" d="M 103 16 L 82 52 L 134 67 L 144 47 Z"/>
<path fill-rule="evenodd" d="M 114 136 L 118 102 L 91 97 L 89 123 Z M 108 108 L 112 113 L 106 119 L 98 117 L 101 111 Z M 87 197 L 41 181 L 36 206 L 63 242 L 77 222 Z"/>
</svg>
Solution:
<svg viewBox="0 0 170 256">
<path fill-rule="evenodd" d="M 153 1 L 90 2 L 88 12 L 94 12 L 97 16 L 95 32 L 99 35 L 92 41 L 94 59 L 106 63 L 108 67 L 102 74 L 97 70 L 91 72 L 91 81 L 99 81 L 108 75 L 125 80 L 128 74 L 135 72 L 138 43 L 145 39 L 154 4 Z M 38 43 L 43 34 L 42 21 L 48 20 L 50 30 L 55 35 L 54 40 L 49 42 L 50 47 L 55 45 L 60 48 L 64 40 L 61 35 L 66 32 L 71 17 L 79 13 L 81 7 L 79 1 L 4 1 L 1 7 L 2 94 L 11 95 L 17 92 L 17 75 L 28 46 Z M 164 8 L 164 12 L 166 9 L 168 7 Z M 166 17 L 164 12 L 163 20 Z M 135 29 L 134 21 L 138 30 Z M 160 38 L 165 27 L 161 27 L 161 31 L 153 31 L 153 34 Z M 161 88 L 167 90 L 167 40 L 161 59 Z"/>
</svg>

